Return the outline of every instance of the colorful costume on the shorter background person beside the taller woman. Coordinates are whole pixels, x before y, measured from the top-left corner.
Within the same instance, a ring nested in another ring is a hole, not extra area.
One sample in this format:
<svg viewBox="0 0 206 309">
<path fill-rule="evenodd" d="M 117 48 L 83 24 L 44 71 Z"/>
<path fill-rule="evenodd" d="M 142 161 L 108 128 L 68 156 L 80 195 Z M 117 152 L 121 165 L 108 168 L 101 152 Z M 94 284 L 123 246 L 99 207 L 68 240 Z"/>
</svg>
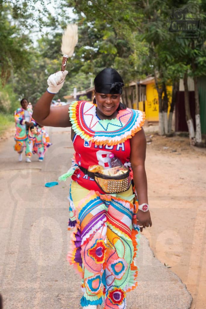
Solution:
<svg viewBox="0 0 206 309">
<path fill-rule="evenodd" d="M 33 142 L 33 154 L 37 154 L 39 159 L 44 159 L 46 150 L 52 144 L 50 143 L 49 135 L 44 127 L 39 125 L 32 119 L 35 127 L 29 132 L 29 139 Z"/>
</svg>

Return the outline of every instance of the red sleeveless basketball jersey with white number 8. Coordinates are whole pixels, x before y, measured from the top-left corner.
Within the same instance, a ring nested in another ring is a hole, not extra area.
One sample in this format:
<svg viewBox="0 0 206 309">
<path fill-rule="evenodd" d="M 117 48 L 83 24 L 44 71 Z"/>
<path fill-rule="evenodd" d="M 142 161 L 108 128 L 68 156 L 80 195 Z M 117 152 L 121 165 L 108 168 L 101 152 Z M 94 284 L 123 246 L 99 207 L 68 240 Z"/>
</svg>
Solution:
<svg viewBox="0 0 206 309">
<path fill-rule="evenodd" d="M 79 166 L 86 169 L 90 165 L 101 165 L 104 168 L 109 168 L 109 154 L 113 153 L 115 157 L 119 158 L 124 164 L 129 162 L 130 159 L 130 140 L 127 139 L 125 142 L 117 145 L 96 145 L 93 142 L 87 142 L 79 135 L 75 135 L 73 139 L 74 149 L 76 151 L 75 159 Z M 99 186 L 96 184 L 93 178 L 85 175 L 79 168 L 76 169 L 72 175 L 72 180 L 76 181 L 82 187 L 88 190 L 99 191 L 104 193 Z"/>
</svg>

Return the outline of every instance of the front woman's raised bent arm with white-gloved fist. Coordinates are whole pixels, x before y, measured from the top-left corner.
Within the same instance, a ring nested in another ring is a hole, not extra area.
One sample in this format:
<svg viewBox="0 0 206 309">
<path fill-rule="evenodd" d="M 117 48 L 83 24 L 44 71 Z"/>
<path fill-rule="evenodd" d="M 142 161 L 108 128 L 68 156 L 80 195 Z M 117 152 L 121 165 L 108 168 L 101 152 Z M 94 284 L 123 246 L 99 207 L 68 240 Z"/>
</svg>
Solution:
<svg viewBox="0 0 206 309">
<path fill-rule="evenodd" d="M 68 71 L 57 72 L 49 76 L 47 91 L 37 101 L 32 117 L 40 125 L 51 127 L 71 127 L 68 105 L 50 107 L 54 95 L 61 89 Z"/>
</svg>

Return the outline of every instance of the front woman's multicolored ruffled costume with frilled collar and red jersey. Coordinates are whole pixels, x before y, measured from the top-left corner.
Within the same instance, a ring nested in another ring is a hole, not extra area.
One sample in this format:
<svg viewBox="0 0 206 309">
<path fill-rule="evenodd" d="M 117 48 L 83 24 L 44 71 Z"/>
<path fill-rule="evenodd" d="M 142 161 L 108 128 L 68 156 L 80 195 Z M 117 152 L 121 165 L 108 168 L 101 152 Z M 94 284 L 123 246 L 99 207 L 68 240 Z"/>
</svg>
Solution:
<svg viewBox="0 0 206 309">
<path fill-rule="evenodd" d="M 105 194 L 79 166 L 107 168 L 109 154 L 130 165 L 130 138 L 141 129 L 144 113 L 126 108 L 111 120 L 96 116 L 96 104 L 75 101 L 69 107 L 76 151 L 65 179 L 72 175 L 68 229 L 74 229 L 68 261 L 82 277 L 81 305 L 102 303 L 105 309 L 125 309 L 126 292 L 137 286 L 135 265 L 139 226 L 138 202 L 129 190 Z M 130 170 L 132 175 L 132 171 Z M 103 284 L 104 289 L 101 289 Z"/>
</svg>

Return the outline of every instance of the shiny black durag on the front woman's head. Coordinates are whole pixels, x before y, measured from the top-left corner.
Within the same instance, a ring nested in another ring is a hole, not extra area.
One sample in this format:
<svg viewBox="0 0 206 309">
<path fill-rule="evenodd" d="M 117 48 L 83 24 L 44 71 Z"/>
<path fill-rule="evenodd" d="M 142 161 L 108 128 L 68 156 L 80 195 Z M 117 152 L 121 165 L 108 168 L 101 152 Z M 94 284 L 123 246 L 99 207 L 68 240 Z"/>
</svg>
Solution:
<svg viewBox="0 0 206 309">
<path fill-rule="evenodd" d="M 102 70 L 94 78 L 95 91 L 105 94 L 122 94 L 124 82 L 119 73 L 112 68 Z"/>
</svg>

